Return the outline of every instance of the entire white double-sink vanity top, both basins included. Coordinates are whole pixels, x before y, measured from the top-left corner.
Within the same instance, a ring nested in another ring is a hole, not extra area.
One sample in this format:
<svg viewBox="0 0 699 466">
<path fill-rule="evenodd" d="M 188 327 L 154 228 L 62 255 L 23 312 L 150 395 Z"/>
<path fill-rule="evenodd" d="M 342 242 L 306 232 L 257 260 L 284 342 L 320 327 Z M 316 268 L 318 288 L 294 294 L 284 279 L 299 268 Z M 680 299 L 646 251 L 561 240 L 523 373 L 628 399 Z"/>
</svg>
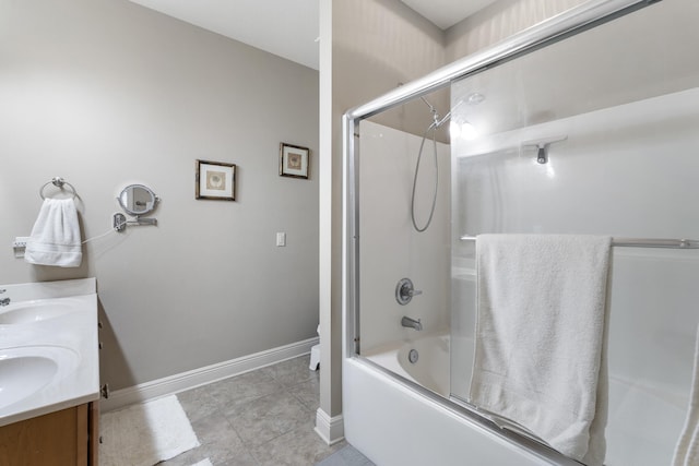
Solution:
<svg viewBox="0 0 699 466">
<path fill-rule="evenodd" d="M 99 399 L 95 278 L 0 289 L 0 428 Z"/>
</svg>

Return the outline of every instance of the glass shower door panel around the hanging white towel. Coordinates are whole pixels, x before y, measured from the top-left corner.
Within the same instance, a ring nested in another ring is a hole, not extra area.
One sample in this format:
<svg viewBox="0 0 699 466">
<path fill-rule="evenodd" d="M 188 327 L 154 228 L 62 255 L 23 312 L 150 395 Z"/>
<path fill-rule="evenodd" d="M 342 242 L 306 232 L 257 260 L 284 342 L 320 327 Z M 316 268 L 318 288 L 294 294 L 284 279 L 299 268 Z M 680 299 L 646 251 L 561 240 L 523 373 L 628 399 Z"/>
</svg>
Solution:
<svg viewBox="0 0 699 466">
<path fill-rule="evenodd" d="M 451 140 L 454 399 L 469 401 L 476 319 L 475 241 L 462 237 L 699 238 L 687 208 L 699 199 L 698 17 L 696 2 L 659 2 L 452 84 L 452 120 L 471 136 Z M 605 464 L 670 464 L 699 251 L 616 247 L 612 261 Z"/>
</svg>

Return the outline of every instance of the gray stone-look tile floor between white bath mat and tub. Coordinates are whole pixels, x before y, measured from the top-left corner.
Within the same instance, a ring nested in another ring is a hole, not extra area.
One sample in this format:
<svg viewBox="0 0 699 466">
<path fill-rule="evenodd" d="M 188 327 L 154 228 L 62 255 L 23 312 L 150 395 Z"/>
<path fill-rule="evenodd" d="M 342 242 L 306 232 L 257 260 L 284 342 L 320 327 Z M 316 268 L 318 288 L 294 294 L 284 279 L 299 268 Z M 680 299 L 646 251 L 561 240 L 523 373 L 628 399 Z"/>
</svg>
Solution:
<svg viewBox="0 0 699 466">
<path fill-rule="evenodd" d="M 201 446 L 161 463 L 190 466 L 309 466 L 347 445 L 313 431 L 319 373 L 301 356 L 177 394 Z"/>
</svg>

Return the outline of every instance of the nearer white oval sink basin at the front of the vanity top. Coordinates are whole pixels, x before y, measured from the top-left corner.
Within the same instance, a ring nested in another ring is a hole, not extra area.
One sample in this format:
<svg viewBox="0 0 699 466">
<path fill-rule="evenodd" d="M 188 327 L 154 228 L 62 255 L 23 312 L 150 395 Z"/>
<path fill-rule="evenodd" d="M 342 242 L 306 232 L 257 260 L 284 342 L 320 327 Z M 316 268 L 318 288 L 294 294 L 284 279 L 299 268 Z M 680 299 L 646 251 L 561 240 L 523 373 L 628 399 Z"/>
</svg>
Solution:
<svg viewBox="0 0 699 466">
<path fill-rule="evenodd" d="M 79 360 L 75 351 L 60 346 L 0 349 L 0 409 L 71 373 Z"/>
</svg>

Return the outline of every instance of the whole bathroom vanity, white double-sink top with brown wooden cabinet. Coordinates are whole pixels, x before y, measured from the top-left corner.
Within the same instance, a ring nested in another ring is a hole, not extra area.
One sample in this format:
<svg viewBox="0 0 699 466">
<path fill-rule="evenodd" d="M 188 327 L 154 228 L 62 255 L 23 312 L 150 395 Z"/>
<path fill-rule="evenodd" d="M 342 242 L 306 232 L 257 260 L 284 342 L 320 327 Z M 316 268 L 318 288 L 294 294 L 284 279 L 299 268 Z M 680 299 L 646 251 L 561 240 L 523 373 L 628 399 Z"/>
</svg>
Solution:
<svg viewBox="0 0 699 466">
<path fill-rule="evenodd" d="M 96 465 L 95 279 L 0 290 L 0 465 Z"/>
</svg>

